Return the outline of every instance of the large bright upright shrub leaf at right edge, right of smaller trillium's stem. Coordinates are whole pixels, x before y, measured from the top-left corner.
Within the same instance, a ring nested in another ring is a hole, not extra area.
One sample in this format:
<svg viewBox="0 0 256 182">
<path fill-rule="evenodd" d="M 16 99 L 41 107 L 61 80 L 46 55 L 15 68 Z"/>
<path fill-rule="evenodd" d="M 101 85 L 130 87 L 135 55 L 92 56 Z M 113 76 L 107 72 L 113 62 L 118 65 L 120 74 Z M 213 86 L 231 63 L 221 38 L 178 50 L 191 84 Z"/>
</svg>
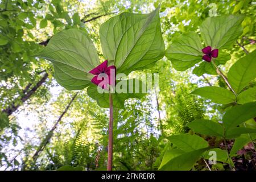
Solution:
<svg viewBox="0 0 256 182">
<path fill-rule="evenodd" d="M 250 81 L 256 78 L 256 50 L 238 60 L 228 72 L 228 80 L 236 93 L 240 93 Z"/>
</svg>

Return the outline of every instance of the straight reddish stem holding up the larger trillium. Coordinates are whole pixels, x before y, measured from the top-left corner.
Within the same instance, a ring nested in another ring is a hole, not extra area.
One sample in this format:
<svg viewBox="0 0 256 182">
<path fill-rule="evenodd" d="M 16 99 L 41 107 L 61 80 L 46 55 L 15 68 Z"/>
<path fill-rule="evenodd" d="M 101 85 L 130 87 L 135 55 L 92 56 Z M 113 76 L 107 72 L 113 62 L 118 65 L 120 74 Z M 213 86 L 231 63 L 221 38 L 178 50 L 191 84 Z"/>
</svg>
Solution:
<svg viewBox="0 0 256 182">
<path fill-rule="evenodd" d="M 112 171 L 113 161 L 113 98 L 109 93 L 109 145 L 108 145 L 108 171 Z"/>
</svg>

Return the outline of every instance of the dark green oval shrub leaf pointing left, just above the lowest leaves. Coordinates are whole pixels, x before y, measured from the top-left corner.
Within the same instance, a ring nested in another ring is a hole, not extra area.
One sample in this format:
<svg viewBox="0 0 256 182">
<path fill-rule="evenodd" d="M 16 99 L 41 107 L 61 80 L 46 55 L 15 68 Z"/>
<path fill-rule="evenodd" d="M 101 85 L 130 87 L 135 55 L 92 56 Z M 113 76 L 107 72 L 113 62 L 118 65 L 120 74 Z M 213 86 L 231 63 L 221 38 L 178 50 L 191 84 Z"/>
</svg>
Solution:
<svg viewBox="0 0 256 182">
<path fill-rule="evenodd" d="M 215 137 L 224 137 L 224 129 L 220 123 L 207 119 L 195 119 L 187 124 L 196 133 L 210 135 Z"/>
</svg>

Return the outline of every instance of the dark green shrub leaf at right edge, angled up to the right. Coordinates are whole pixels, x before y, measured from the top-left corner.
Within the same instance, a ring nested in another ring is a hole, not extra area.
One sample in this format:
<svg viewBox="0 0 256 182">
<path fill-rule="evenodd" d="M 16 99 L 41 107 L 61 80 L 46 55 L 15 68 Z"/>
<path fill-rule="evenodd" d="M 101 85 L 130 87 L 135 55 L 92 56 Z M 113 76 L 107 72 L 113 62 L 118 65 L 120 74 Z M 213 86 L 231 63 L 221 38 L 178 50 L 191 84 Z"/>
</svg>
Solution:
<svg viewBox="0 0 256 182">
<path fill-rule="evenodd" d="M 254 117 L 256 117 L 256 102 L 249 102 L 234 106 L 226 111 L 222 121 L 226 130 L 228 130 Z"/>
</svg>

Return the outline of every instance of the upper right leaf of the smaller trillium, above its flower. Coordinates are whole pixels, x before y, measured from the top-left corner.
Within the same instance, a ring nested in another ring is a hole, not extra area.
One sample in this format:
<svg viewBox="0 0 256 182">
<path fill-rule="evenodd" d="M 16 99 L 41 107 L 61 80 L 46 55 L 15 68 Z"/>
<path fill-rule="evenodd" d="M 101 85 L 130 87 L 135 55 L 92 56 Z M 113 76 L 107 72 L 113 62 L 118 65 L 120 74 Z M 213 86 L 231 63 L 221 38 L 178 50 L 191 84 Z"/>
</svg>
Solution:
<svg viewBox="0 0 256 182">
<path fill-rule="evenodd" d="M 204 20 L 200 26 L 205 46 L 225 49 L 233 45 L 242 34 L 243 15 L 215 16 Z"/>
</svg>

